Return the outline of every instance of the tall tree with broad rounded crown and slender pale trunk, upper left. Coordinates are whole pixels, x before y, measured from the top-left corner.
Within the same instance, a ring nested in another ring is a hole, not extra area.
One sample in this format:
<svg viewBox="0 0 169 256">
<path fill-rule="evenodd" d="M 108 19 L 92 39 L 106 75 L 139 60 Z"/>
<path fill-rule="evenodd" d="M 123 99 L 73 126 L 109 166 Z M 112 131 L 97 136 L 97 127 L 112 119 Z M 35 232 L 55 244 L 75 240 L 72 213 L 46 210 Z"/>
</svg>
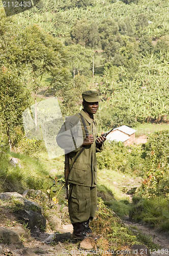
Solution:
<svg viewBox="0 0 169 256">
<path fill-rule="evenodd" d="M 10 65 L 15 63 L 18 74 L 26 73 L 25 81 L 31 85 L 35 101 L 35 125 L 37 126 L 37 93 L 44 75 L 51 77 L 49 87 L 63 88 L 69 79 L 68 55 L 64 45 L 39 26 L 32 25 L 20 31 L 9 44 Z M 8 56 L 6 55 L 6 58 Z"/>
</svg>

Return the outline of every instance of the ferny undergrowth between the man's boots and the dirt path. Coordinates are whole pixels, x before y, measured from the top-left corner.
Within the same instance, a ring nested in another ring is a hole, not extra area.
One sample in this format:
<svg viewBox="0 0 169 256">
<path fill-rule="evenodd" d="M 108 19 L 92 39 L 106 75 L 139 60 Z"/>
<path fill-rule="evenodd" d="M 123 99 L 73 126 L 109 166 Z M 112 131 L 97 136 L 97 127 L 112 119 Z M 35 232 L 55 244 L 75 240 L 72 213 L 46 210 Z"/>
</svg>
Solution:
<svg viewBox="0 0 169 256">
<path fill-rule="evenodd" d="M 149 246 L 149 248 L 158 248 L 150 239 L 146 239 L 146 237 L 142 236 L 139 232 L 133 234 L 130 229 L 123 225 L 121 220 L 111 209 L 107 209 L 100 198 L 98 199 L 98 207 L 96 218 L 91 222 L 91 226 L 100 236 L 97 242 L 99 248 L 102 248 L 104 251 L 108 251 L 110 248 L 117 250 L 123 247 L 124 244 L 127 246 L 139 243 L 144 243 Z"/>
</svg>

